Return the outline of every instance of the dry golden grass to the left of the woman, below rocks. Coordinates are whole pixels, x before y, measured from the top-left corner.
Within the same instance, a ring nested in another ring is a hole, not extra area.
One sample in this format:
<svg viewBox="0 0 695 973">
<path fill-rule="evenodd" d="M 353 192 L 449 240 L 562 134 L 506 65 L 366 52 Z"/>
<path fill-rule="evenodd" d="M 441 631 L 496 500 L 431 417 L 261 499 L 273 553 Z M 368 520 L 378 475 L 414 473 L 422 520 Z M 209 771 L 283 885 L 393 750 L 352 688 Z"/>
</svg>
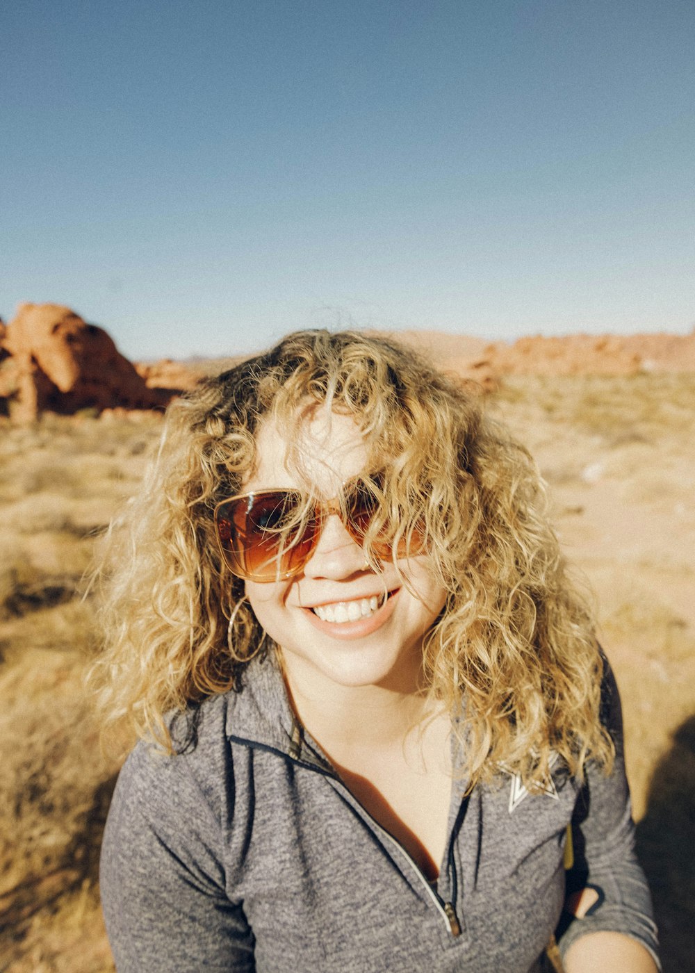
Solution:
<svg viewBox="0 0 695 973">
<path fill-rule="evenodd" d="M 80 589 L 159 429 L 48 417 L 0 427 L 1 970 L 113 970 L 96 880 L 117 768 L 82 690 L 96 636 Z"/>
</svg>

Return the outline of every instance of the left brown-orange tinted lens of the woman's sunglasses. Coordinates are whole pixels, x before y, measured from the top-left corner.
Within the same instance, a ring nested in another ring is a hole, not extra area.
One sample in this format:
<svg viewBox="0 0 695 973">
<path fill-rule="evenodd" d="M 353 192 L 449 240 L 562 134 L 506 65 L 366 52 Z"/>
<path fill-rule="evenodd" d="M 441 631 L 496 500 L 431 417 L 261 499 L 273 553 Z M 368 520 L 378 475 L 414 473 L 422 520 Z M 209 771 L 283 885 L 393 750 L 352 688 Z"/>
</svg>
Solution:
<svg viewBox="0 0 695 973">
<path fill-rule="evenodd" d="M 294 490 L 249 493 L 222 504 L 217 528 L 232 570 L 260 582 L 297 574 L 316 533 L 314 518 L 298 520 L 301 505 L 302 495 Z"/>
</svg>

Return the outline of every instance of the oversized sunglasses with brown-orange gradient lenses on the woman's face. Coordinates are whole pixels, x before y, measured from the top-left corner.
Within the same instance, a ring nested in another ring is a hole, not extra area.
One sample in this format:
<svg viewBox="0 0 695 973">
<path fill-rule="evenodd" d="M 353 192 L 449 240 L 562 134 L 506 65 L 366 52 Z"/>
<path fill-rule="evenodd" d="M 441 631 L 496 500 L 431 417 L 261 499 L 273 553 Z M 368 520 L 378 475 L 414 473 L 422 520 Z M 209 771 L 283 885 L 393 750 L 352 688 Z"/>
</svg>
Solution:
<svg viewBox="0 0 695 973">
<path fill-rule="evenodd" d="M 380 498 L 364 480 L 348 482 L 341 497 L 308 500 L 297 489 L 261 489 L 223 500 L 214 518 L 222 556 L 229 569 L 247 581 L 286 581 L 300 574 L 311 558 L 331 514 L 337 514 L 355 543 L 362 546 L 369 528 L 377 521 Z M 383 515 L 382 515 L 383 516 Z M 370 537 L 371 549 L 379 559 L 392 559 L 395 529 L 379 523 Z M 417 553 L 419 536 L 402 536 L 396 557 Z"/>
</svg>

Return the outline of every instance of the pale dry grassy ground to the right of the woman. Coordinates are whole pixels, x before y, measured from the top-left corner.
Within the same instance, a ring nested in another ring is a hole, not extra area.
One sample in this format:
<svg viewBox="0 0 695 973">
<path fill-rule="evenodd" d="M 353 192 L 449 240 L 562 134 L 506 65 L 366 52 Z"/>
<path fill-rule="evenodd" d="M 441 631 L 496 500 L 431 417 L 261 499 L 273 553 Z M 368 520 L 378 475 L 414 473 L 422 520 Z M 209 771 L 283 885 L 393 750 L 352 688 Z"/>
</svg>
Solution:
<svg viewBox="0 0 695 973">
<path fill-rule="evenodd" d="M 551 487 L 623 697 L 665 973 L 695 955 L 695 376 L 517 378 L 496 406 Z"/>
</svg>

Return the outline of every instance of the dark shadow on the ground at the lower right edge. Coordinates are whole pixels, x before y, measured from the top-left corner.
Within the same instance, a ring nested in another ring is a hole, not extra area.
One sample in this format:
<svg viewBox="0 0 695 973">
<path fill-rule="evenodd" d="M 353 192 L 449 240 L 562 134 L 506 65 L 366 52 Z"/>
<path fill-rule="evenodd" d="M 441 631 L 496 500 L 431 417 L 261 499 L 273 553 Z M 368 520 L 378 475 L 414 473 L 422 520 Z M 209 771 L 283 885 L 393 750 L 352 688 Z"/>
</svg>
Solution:
<svg viewBox="0 0 695 973">
<path fill-rule="evenodd" d="M 695 715 L 678 727 L 651 778 L 637 829 L 659 925 L 664 973 L 695 969 Z"/>
</svg>

